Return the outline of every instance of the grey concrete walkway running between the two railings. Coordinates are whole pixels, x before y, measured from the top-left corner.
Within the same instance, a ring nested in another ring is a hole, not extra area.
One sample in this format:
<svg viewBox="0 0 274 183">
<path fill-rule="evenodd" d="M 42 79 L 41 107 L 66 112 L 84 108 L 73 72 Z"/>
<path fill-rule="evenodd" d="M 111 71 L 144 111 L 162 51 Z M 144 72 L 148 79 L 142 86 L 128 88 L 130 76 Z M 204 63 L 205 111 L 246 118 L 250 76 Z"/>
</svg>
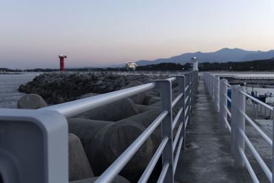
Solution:
<svg viewBox="0 0 274 183">
<path fill-rule="evenodd" d="M 228 130 L 219 127 L 219 113 L 203 81 L 199 81 L 186 130 L 189 147 L 181 151 L 175 182 L 252 182 L 246 167 L 234 166 Z"/>
</svg>

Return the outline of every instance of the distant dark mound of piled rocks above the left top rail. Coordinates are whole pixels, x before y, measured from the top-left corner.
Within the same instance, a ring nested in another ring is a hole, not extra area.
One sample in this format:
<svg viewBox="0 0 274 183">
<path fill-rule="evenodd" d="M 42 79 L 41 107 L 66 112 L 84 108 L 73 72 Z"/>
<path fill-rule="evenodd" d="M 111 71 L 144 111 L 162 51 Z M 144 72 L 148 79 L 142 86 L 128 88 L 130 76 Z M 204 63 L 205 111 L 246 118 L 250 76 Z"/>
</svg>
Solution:
<svg viewBox="0 0 274 183">
<path fill-rule="evenodd" d="M 126 88 L 131 82 L 145 84 L 167 76 L 114 75 L 108 73 L 44 73 L 19 86 L 24 93 L 40 95 L 47 103 L 64 103 L 87 93 L 103 94 Z M 135 86 L 138 84 L 135 84 Z M 90 95 L 92 96 L 92 95 Z"/>
</svg>

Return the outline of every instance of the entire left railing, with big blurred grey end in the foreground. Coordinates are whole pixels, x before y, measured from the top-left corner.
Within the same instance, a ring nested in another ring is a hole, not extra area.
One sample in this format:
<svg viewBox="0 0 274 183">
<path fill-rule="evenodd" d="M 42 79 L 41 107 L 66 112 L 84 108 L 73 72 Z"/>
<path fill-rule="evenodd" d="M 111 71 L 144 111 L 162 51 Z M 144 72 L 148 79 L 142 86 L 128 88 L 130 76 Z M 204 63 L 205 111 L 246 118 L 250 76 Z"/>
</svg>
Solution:
<svg viewBox="0 0 274 183">
<path fill-rule="evenodd" d="M 162 156 L 162 171 L 158 182 L 174 182 L 179 154 L 186 143 L 186 127 L 190 123 L 197 80 L 198 71 L 192 71 L 166 80 L 152 80 L 148 84 L 38 110 L 0 109 L 0 181 L 2 179 L 4 183 L 22 180 L 69 182 L 66 118 L 153 89 L 160 92 L 161 114 L 99 176 L 96 182 L 112 182 L 160 124 L 162 142 L 138 182 L 147 182 L 160 156 Z M 172 100 L 174 81 L 179 84 L 179 95 Z M 173 107 L 178 102 L 179 111 L 173 120 Z M 173 130 L 177 123 L 179 127 L 173 138 Z M 176 147 L 177 151 L 175 151 Z"/>
</svg>

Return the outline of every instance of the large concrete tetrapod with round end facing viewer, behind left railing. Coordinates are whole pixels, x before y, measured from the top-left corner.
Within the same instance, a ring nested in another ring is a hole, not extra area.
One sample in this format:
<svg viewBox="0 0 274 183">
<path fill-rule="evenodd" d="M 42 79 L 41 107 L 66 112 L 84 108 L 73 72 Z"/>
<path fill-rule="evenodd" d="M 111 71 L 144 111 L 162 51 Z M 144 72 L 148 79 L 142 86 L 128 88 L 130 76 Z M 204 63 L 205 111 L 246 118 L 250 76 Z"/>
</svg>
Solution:
<svg viewBox="0 0 274 183">
<path fill-rule="evenodd" d="M 69 132 L 82 141 L 95 176 L 101 175 L 116 158 L 145 130 L 136 122 L 108 122 L 88 119 L 69 119 Z M 136 182 L 153 155 L 149 137 L 119 173 L 130 182 Z"/>
</svg>

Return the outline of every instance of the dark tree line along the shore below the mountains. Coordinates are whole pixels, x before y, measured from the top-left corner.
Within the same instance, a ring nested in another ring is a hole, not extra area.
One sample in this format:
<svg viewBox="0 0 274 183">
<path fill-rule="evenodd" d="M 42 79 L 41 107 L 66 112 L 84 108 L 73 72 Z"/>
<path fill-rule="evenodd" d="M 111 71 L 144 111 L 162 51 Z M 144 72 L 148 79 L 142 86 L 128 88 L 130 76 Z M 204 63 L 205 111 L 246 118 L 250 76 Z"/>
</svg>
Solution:
<svg viewBox="0 0 274 183">
<path fill-rule="evenodd" d="M 137 66 L 136 71 L 188 71 L 192 69 L 192 63 L 160 63 L 149 64 L 146 66 Z M 0 68 L 5 72 L 52 72 L 60 71 L 59 69 L 7 69 Z M 127 71 L 125 67 L 120 68 L 74 68 L 66 71 Z M 199 71 L 274 71 L 274 58 L 266 60 L 253 60 L 247 62 L 201 62 Z"/>
</svg>

